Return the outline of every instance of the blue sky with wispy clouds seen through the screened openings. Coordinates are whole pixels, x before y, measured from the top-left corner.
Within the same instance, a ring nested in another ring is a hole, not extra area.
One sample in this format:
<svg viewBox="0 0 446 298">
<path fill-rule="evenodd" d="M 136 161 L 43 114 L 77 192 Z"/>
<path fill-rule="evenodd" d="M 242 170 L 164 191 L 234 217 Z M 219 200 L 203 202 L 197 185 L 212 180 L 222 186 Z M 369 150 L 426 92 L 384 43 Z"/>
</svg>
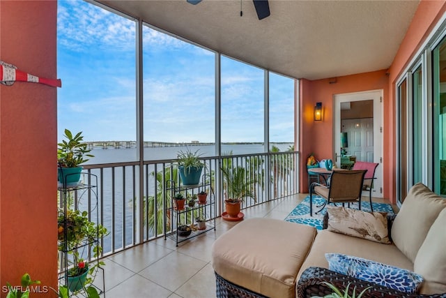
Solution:
<svg viewBox="0 0 446 298">
<path fill-rule="evenodd" d="M 136 24 L 59 1 L 58 135 L 136 140 Z M 215 141 L 215 54 L 143 29 L 144 140 Z M 263 142 L 263 70 L 222 58 L 222 141 Z M 293 142 L 293 80 L 270 77 L 270 140 Z"/>
</svg>

